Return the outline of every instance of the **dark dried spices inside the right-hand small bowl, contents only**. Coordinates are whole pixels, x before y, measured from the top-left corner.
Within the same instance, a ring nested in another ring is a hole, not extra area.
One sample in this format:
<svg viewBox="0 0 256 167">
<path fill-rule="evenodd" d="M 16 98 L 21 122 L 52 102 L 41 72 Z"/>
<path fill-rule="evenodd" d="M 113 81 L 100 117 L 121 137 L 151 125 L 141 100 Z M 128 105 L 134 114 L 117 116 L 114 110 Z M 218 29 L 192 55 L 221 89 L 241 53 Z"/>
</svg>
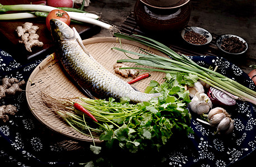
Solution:
<svg viewBox="0 0 256 167">
<path fill-rule="evenodd" d="M 222 40 L 221 48 L 226 52 L 240 53 L 246 49 L 245 42 L 239 40 L 238 37 L 228 37 Z"/>
</svg>

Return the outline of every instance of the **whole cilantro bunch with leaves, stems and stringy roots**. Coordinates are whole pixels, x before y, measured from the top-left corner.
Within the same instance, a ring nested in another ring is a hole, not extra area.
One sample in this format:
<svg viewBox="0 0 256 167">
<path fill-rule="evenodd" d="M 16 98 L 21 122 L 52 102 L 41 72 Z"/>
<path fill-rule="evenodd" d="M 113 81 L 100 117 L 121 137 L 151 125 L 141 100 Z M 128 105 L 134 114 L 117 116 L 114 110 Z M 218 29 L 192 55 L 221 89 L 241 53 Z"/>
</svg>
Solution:
<svg viewBox="0 0 256 167">
<path fill-rule="evenodd" d="M 59 103 L 54 112 L 75 130 L 105 141 L 110 148 L 118 145 L 131 153 L 151 148 L 159 150 L 173 135 L 192 132 L 189 127 L 191 115 L 187 109 L 191 100 L 186 86 L 192 86 L 197 80 L 196 75 L 188 73 L 167 73 L 162 84 L 151 81 L 145 90 L 147 93 L 159 92 L 160 96 L 138 104 L 130 104 L 125 97 L 118 102 L 113 98 L 108 101 L 79 98 L 82 101 L 79 104 L 98 122 L 75 109 L 74 102 L 67 99 L 53 99 L 54 106 Z M 95 143 L 90 149 L 95 154 L 101 151 Z"/>
</svg>

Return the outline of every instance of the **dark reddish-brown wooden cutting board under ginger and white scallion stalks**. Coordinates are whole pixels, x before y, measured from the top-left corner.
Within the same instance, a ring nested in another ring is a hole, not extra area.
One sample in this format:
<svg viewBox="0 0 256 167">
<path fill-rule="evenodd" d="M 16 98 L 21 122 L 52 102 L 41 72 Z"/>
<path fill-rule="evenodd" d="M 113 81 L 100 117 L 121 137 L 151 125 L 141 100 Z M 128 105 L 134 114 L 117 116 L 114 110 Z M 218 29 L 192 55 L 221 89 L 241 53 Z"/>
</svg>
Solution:
<svg viewBox="0 0 256 167">
<path fill-rule="evenodd" d="M 1 0 L 0 3 L 3 5 L 30 4 L 34 1 L 37 0 Z M 14 12 L 12 11 L 5 13 Z M 15 31 L 17 26 L 22 26 L 22 24 L 25 22 L 31 22 L 34 25 L 39 26 L 39 30 L 37 30 L 37 34 L 39 35 L 39 41 L 44 43 L 44 46 L 42 47 L 33 47 L 32 52 L 26 51 L 25 46 L 18 42 L 20 40 L 20 37 L 17 36 L 17 33 Z M 96 35 L 99 31 L 101 31 L 100 27 L 93 26 L 92 24 L 71 23 L 70 27 L 75 27 L 83 39 Z M 12 55 L 15 60 L 20 63 L 26 63 L 30 60 L 34 60 L 38 56 L 42 55 L 42 53 L 49 54 L 54 51 L 51 34 L 45 26 L 45 18 L 28 18 L 12 21 L 0 21 L 0 37 L 0 48 L 10 53 L 10 55 Z"/>
</svg>

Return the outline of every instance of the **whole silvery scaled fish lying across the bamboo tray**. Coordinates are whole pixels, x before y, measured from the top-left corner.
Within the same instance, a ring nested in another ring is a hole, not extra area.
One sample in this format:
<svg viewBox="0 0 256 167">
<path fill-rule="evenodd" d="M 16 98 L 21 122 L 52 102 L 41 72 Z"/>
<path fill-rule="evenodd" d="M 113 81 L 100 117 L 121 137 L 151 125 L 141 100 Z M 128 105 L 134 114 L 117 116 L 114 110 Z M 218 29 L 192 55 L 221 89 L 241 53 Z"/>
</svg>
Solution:
<svg viewBox="0 0 256 167">
<path fill-rule="evenodd" d="M 61 64 L 83 89 L 92 90 L 101 98 L 120 99 L 121 97 L 128 97 L 132 102 L 148 101 L 159 96 L 159 94 L 145 94 L 136 91 L 127 82 L 106 70 L 83 50 L 77 42 L 74 31 L 64 22 L 52 19 L 51 30 L 55 44 L 58 46 L 56 53 L 60 57 Z M 69 34 L 67 35 L 67 33 Z M 71 33 L 74 34 L 72 38 L 70 38 Z"/>
</svg>

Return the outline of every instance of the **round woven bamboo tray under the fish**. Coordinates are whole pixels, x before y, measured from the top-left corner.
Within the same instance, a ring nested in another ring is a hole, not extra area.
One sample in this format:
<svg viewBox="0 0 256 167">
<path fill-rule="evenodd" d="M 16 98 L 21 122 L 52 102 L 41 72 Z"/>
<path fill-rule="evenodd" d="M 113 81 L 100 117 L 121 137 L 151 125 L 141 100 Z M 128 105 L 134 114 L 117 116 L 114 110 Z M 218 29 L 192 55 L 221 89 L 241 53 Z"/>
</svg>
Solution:
<svg viewBox="0 0 256 167">
<path fill-rule="evenodd" d="M 139 48 L 148 50 L 151 53 L 158 55 L 163 55 L 162 53 L 155 51 L 147 46 L 141 45 L 137 42 L 121 40 L 122 48 L 125 50 L 141 52 Z M 84 46 L 91 53 L 91 55 L 101 63 L 108 71 L 115 73 L 113 70 L 113 65 L 117 60 L 127 58 L 123 52 L 111 50 L 112 47 L 120 47 L 120 41 L 117 38 L 112 37 L 97 37 L 90 38 L 83 41 Z M 129 55 L 135 57 L 134 55 Z M 125 63 L 128 66 L 134 66 L 132 63 Z M 158 82 L 163 82 L 164 73 L 161 72 L 150 72 L 151 77 L 145 78 L 132 86 L 136 87 L 140 91 L 145 91 L 146 87 L 149 85 L 150 80 L 155 80 Z M 121 75 L 115 73 L 116 76 L 129 81 L 132 78 L 124 78 Z M 31 73 L 29 82 L 26 85 L 26 99 L 27 103 L 38 120 L 42 124 L 49 127 L 51 130 L 59 132 L 63 135 L 72 137 L 73 139 L 82 140 L 82 141 L 92 141 L 92 138 L 83 134 L 80 134 L 78 131 L 74 130 L 54 112 L 49 111 L 41 100 L 40 92 L 42 89 L 49 87 L 50 94 L 53 96 L 59 97 L 86 97 L 83 92 L 81 92 L 77 86 L 69 80 L 69 77 L 66 76 L 58 59 L 55 57 L 55 53 L 45 58 Z M 94 139 L 96 143 L 101 142 L 99 139 Z"/>
</svg>

